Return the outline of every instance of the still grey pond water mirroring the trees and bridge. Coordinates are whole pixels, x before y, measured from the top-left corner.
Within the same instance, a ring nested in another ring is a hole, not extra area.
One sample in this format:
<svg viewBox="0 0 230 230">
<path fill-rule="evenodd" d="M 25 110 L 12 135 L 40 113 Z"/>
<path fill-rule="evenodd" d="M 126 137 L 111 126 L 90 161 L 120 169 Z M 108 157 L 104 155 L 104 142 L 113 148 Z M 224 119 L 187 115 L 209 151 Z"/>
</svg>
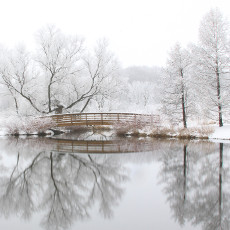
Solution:
<svg viewBox="0 0 230 230">
<path fill-rule="evenodd" d="M 104 134 L 0 139 L 0 229 L 227 230 L 229 154 Z"/>
</svg>

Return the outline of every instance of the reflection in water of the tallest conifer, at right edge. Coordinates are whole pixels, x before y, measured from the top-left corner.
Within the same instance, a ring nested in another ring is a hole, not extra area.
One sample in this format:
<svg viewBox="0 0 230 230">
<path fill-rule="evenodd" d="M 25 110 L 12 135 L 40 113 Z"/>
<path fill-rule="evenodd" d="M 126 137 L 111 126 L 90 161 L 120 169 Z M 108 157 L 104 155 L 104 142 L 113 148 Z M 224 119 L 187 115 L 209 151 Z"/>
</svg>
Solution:
<svg viewBox="0 0 230 230">
<path fill-rule="evenodd" d="M 219 149 L 216 149 L 206 161 L 202 161 L 191 210 L 194 213 L 195 224 L 202 223 L 204 229 L 227 230 L 230 225 L 230 194 L 227 189 L 229 167 L 224 168 L 223 144 L 220 143 L 217 147 Z"/>
</svg>

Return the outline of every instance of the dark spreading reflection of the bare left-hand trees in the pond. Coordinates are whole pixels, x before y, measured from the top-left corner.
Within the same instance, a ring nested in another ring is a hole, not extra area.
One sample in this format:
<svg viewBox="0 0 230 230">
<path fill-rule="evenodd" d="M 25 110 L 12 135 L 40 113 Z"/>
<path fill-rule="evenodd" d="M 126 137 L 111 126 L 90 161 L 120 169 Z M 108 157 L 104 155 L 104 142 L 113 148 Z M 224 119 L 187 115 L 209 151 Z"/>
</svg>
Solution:
<svg viewBox="0 0 230 230">
<path fill-rule="evenodd" d="M 45 228 L 67 229 L 73 220 L 89 218 L 97 203 L 100 213 L 111 217 L 127 179 L 119 159 L 108 155 L 41 151 L 25 160 L 18 152 L 1 174 L 0 212 L 30 218 L 45 211 Z"/>
</svg>

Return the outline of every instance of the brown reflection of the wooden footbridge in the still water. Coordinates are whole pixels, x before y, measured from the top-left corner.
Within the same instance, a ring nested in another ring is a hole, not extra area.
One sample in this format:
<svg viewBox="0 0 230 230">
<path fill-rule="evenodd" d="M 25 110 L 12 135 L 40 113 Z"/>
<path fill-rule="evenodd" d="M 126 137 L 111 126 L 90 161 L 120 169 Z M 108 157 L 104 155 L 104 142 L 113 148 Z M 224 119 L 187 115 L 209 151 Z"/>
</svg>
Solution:
<svg viewBox="0 0 230 230">
<path fill-rule="evenodd" d="M 84 130 L 67 133 L 51 139 L 55 143 L 53 151 L 72 153 L 130 153 L 152 151 L 158 144 L 149 138 L 118 138 L 110 132 Z"/>
</svg>

